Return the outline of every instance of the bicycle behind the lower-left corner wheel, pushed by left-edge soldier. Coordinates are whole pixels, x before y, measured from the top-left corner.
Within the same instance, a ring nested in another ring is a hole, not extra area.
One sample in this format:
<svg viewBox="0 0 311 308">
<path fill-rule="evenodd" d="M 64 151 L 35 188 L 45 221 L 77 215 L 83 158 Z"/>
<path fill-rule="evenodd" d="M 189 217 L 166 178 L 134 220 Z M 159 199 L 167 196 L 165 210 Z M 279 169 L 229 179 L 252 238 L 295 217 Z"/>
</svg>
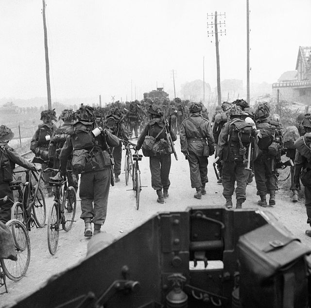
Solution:
<svg viewBox="0 0 311 308">
<path fill-rule="evenodd" d="M 21 172 L 26 173 L 25 182 L 17 180 L 10 183 L 11 190 L 18 191 L 18 199 L 21 201 L 14 203 L 11 219 L 21 221 L 30 231 L 31 227 L 45 226 L 46 204 L 42 190 L 39 187 L 44 171 L 41 170 L 38 177 L 34 171 L 30 170 L 16 171 L 15 173 Z M 33 177 L 36 180 L 35 185 L 32 182 Z"/>
</svg>

